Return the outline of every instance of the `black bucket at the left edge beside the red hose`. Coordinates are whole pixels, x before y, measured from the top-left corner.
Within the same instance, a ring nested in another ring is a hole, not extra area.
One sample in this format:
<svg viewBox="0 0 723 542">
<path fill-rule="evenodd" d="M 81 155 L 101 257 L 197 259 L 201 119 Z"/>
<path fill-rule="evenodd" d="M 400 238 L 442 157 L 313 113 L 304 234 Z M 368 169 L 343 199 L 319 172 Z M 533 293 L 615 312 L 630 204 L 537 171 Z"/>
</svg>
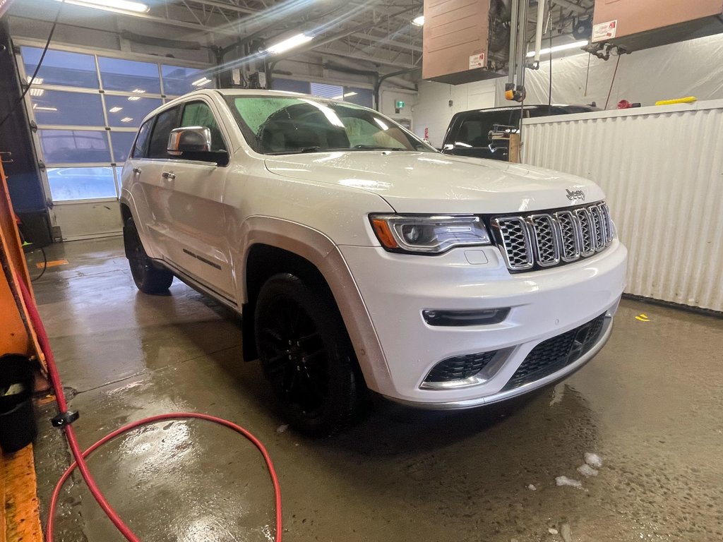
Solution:
<svg viewBox="0 0 723 542">
<path fill-rule="evenodd" d="M 17 452 L 38 434 L 33 410 L 33 365 L 26 356 L 0 357 L 0 448 Z"/>
</svg>

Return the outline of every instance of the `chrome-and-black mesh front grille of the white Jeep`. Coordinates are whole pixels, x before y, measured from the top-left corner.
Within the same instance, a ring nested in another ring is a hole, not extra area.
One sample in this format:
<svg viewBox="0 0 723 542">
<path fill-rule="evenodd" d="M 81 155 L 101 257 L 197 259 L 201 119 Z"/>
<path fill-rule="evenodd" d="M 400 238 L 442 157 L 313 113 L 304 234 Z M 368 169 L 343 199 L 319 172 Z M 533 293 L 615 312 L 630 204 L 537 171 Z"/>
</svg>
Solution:
<svg viewBox="0 0 723 542">
<path fill-rule="evenodd" d="M 512 271 L 553 267 L 590 257 L 604 250 L 614 236 L 605 202 L 571 210 L 495 217 L 490 225 Z"/>
</svg>

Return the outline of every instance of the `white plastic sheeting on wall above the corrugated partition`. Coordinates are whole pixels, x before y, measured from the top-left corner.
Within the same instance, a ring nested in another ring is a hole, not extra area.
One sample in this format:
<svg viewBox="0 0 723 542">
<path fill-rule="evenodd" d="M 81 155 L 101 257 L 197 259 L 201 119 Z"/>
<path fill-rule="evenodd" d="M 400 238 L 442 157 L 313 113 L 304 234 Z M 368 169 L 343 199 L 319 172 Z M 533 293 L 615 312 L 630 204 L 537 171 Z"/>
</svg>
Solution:
<svg viewBox="0 0 723 542">
<path fill-rule="evenodd" d="M 543 42 L 543 46 L 547 46 Z M 582 105 L 595 102 L 605 108 L 617 56 L 607 61 L 586 53 L 552 61 L 552 103 Z M 544 59 L 544 57 L 543 57 Z M 658 100 L 696 96 L 698 100 L 723 98 L 723 34 L 672 43 L 620 56 L 607 106 L 628 100 L 652 106 Z M 590 70 L 588 74 L 588 61 Z M 496 79 L 497 105 L 514 105 L 504 99 L 507 79 Z M 549 62 L 525 76 L 526 103 L 547 103 Z M 587 87 L 587 91 L 586 91 Z"/>
</svg>

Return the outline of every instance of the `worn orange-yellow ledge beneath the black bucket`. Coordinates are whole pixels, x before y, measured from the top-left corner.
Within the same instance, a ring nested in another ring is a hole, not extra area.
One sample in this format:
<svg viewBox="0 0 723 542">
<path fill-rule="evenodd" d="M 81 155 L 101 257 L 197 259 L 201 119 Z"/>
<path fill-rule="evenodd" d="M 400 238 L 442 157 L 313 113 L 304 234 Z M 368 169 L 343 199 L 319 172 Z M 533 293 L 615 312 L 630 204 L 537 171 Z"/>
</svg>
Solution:
<svg viewBox="0 0 723 542">
<path fill-rule="evenodd" d="M 43 542 L 33 444 L 0 456 L 0 542 Z"/>
</svg>

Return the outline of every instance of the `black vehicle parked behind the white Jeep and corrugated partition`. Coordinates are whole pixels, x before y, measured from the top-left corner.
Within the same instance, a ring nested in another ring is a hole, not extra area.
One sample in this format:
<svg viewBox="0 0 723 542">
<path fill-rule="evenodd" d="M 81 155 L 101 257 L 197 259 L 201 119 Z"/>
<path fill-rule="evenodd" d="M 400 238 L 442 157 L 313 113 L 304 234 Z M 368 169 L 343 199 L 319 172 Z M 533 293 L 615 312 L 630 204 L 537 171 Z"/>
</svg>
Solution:
<svg viewBox="0 0 723 542">
<path fill-rule="evenodd" d="M 452 117 L 442 143 L 442 152 L 448 155 L 474 156 L 492 160 L 508 160 L 509 145 L 506 139 L 491 139 L 492 127 L 520 127 L 520 106 L 495 107 L 461 111 Z M 538 116 L 569 115 L 599 111 L 594 106 L 523 106 L 526 119 Z"/>
</svg>

